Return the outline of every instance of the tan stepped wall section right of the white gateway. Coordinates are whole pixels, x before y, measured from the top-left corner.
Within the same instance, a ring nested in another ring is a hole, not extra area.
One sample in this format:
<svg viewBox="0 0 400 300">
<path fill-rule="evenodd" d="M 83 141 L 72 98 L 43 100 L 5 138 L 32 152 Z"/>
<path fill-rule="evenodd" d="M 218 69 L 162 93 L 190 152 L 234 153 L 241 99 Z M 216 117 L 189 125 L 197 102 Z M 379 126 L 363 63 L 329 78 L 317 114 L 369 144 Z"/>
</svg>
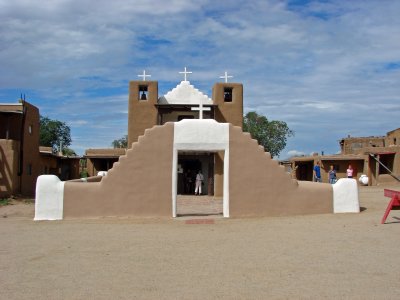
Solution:
<svg viewBox="0 0 400 300">
<path fill-rule="evenodd" d="M 279 216 L 333 212 L 330 184 L 298 182 L 239 127 L 229 132 L 231 216 Z"/>
</svg>

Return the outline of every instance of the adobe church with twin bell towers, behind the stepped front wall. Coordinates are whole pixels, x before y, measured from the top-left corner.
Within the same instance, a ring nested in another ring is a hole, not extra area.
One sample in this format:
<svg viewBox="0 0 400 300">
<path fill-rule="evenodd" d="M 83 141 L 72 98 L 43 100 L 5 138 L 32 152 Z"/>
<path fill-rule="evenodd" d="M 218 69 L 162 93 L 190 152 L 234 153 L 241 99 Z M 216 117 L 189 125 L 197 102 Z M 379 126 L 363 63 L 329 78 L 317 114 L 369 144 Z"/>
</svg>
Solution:
<svg viewBox="0 0 400 300">
<path fill-rule="evenodd" d="M 183 119 L 199 119 L 199 105 L 203 106 L 202 119 L 213 119 L 221 123 L 243 124 L 243 85 L 226 82 L 215 83 L 212 99 L 185 80 L 165 95 L 158 94 L 157 81 L 131 81 L 128 104 L 128 148 L 144 134 L 146 129 L 167 122 Z M 149 76 L 149 75 L 140 75 Z M 226 75 L 227 76 L 227 75 Z M 144 77 L 145 79 L 145 77 Z M 113 163 L 124 155 L 125 149 L 87 149 L 87 171 L 96 176 L 108 171 Z M 205 177 L 203 193 L 215 196 L 222 194 L 222 154 L 215 152 L 182 152 L 178 158 L 178 194 L 194 193 L 194 178 L 198 170 Z"/>
</svg>

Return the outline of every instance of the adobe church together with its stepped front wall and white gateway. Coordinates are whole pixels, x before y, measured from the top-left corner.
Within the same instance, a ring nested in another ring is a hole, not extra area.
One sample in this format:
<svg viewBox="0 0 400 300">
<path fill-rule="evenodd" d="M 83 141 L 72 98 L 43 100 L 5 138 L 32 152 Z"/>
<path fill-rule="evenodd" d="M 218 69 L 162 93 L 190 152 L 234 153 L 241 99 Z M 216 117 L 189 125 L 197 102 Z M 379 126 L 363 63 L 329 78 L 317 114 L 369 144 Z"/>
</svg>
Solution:
<svg viewBox="0 0 400 300">
<path fill-rule="evenodd" d="M 203 194 L 222 198 L 224 217 L 359 212 L 354 179 L 334 186 L 292 179 L 242 131 L 242 84 L 228 82 L 225 73 L 209 98 L 187 80 L 191 72 L 180 73 L 184 80 L 165 95 L 145 72 L 130 82 L 126 152 L 92 150 L 115 160 L 105 176 L 40 176 L 35 220 L 177 217 L 177 198 L 194 193 L 199 170 Z"/>
</svg>

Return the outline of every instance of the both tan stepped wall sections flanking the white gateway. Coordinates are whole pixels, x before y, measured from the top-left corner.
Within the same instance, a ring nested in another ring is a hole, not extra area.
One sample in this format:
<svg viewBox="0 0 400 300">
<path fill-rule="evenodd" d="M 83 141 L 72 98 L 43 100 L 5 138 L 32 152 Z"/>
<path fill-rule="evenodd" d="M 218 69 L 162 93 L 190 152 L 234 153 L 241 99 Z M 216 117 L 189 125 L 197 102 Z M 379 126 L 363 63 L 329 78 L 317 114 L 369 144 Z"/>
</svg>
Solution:
<svg viewBox="0 0 400 300">
<path fill-rule="evenodd" d="M 299 185 L 241 128 L 229 126 L 230 216 L 333 212 L 330 185 Z M 147 129 L 101 182 L 66 182 L 64 218 L 170 217 L 173 137 L 173 123 Z"/>
</svg>

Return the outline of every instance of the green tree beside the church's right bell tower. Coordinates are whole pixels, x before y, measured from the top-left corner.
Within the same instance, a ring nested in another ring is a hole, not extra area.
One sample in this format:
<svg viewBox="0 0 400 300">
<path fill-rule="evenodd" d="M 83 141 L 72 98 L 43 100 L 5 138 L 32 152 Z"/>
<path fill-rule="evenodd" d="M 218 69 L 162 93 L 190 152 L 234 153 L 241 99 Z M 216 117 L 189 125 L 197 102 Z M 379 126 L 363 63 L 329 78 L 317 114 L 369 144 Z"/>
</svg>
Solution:
<svg viewBox="0 0 400 300">
<path fill-rule="evenodd" d="M 278 156 L 285 148 L 287 138 L 294 135 L 294 131 L 285 122 L 268 121 L 265 116 L 254 111 L 244 116 L 243 131 L 249 132 L 271 157 Z"/>
</svg>

